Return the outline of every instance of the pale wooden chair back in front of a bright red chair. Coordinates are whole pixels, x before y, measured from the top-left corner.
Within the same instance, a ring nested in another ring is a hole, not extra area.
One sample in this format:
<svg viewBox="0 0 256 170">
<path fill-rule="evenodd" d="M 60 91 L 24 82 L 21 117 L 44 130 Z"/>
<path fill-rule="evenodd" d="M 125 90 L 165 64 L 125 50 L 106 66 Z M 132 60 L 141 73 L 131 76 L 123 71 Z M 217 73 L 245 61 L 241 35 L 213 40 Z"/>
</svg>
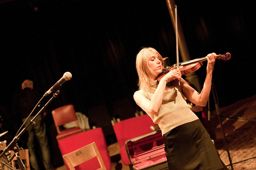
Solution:
<svg viewBox="0 0 256 170">
<path fill-rule="evenodd" d="M 101 168 L 97 170 L 106 170 L 106 167 L 103 163 L 103 160 L 101 158 L 101 155 L 95 142 L 92 142 L 91 144 L 86 145 L 80 149 L 77 149 L 69 154 L 65 154 L 62 157 L 66 161 L 68 168 L 70 168 L 71 170 L 75 170 L 75 167 L 77 165 L 84 163 L 94 157 L 97 157 L 101 166 Z"/>
</svg>

